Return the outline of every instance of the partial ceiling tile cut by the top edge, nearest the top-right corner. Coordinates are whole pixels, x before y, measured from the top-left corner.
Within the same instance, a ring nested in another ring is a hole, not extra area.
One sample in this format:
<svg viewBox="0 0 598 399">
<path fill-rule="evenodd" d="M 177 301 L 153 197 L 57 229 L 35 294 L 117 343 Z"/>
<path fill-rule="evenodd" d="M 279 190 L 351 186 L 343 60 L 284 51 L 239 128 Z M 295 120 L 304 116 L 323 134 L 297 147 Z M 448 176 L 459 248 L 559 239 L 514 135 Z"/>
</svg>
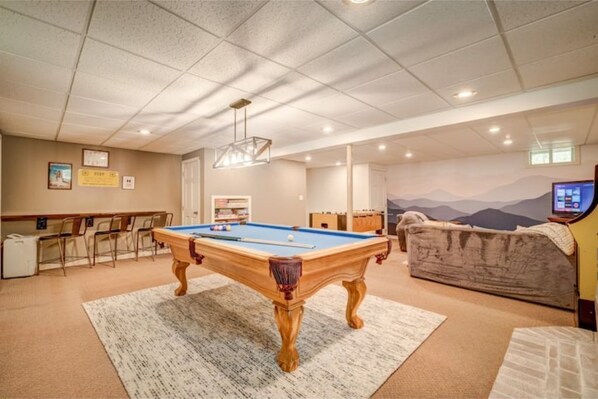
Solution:
<svg viewBox="0 0 598 399">
<path fill-rule="evenodd" d="M 557 14 L 586 1 L 497 1 L 494 4 L 504 30 L 508 31 L 549 15 Z"/>
</svg>

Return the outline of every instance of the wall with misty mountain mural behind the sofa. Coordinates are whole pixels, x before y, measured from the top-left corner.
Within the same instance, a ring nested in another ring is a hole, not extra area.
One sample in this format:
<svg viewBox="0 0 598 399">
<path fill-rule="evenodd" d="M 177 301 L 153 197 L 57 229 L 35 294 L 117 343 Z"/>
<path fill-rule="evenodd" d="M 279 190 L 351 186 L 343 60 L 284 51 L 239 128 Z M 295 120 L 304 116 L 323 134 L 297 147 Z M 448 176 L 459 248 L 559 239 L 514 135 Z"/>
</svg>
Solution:
<svg viewBox="0 0 598 399">
<path fill-rule="evenodd" d="M 501 230 L 546 223 L 552 183 L 593 179 L 596 164 L 598 144 L 581 146 L 580 162 L 571 165 L 530 167 L 526 152 L 393 165 L 388 231 L 405 211 Z"/>
</svg>

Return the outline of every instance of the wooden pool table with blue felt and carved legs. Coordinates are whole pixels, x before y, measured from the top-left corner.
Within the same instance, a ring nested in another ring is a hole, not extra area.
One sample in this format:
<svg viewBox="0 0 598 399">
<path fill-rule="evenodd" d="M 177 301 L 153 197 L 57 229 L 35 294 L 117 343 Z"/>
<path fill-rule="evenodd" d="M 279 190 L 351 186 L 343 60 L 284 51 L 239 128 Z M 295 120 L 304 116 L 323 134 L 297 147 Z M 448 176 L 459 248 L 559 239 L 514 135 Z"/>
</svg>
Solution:
<svg viewBox="0 0 598 399">
<path fill-rule="evenodd" d="M 295 340 L 303 305 L 320 288 L 342 280 L 348 292 L 347 323 L 363 327 L 357 309 L 366 293 L 365 270 L 371 257 L 379 264 L 386 259 L 389 238 L 262 223 L 230 226 L 230 231 L 212 231 L 210 225 L 153 230 L 156 241 L 170 246 L 172 272 L 180 282 L 175 295 L 187 291 L 187 267 L 201 264 L 271 299 L 282 339 L 277 361 L 286 372 L 299 365 Z"/>
</svg>

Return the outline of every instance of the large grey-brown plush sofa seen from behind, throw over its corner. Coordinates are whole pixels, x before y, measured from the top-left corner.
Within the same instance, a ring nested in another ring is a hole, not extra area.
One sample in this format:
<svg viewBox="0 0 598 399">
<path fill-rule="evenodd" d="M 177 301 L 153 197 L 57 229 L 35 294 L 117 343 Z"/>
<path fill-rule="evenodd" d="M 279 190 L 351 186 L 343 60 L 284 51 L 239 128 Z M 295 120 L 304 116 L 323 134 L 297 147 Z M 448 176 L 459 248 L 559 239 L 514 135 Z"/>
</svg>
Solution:
<svg viewBox="0 0 598 399">
<path fill-rule="evenodd" d="M 444 284 L 574 309 L 573 237 L 566 226 L 545 225 L 504 231 L 411 224 L 407 228 L 409 272 Z"/>
</svg>

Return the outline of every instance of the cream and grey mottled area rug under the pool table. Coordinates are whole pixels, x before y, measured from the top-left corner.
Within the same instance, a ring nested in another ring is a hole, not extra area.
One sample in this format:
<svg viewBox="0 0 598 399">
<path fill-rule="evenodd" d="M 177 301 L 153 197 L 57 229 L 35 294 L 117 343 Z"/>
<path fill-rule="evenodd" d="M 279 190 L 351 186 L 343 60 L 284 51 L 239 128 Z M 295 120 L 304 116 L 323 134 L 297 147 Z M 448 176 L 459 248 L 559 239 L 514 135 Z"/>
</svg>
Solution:
<svg viewBox="0 0 598 399">
<path fill-rule="evenodd" d="M 216 274 L 183 297 L 176 286 L 83 304 L 132 398 L 366 398 L 445 319 L 366 295 L 354 330 L 345 289 L 328 286 L 306 302 L 299 368 L 285 373 L 271 301 Z"/>
</svg>

